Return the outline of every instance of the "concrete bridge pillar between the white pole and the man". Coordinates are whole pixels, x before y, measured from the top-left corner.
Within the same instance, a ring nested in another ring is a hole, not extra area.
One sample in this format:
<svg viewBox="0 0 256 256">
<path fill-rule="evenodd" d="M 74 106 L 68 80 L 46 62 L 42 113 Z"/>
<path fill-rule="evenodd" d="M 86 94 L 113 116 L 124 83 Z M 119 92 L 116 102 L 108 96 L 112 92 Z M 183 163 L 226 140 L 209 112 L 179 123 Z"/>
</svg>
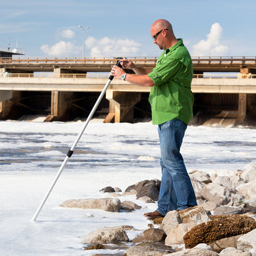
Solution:
<svg viewBox="0 0 256 256">
<path fill-rule="evenodd" d="M 114 122 L 133 122 L 134 105 L 141 100 L 141 94 L 136 92 L 106 91 L 106 99 L 114 106 Z M 110 105 L 111 105 L 110 104 Z M 110 113 L 110 115 L 113 113 Z M 108 119 L 108 116 L 106 117 Z"/>
</svg>

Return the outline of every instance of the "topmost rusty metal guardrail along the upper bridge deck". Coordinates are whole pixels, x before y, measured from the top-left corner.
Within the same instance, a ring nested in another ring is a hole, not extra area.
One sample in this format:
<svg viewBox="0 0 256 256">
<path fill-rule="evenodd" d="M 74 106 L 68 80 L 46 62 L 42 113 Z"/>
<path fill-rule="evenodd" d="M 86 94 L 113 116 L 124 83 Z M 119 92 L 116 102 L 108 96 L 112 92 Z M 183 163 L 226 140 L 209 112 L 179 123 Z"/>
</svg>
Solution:
<svg viewBox="0 0 256 256">
<path fill-rule="evenodd" d="M 137 64 L 156 63 L 158 57 L 129 57 Z M 0 58 L 0 64 L 19 65 L 61 65 L 61 64 L 111 64 L 116 63 L 119 57 L 94 58 Z M 194 65 L 256 65 L 256 57 L 192 57 Z"/>
</svg>

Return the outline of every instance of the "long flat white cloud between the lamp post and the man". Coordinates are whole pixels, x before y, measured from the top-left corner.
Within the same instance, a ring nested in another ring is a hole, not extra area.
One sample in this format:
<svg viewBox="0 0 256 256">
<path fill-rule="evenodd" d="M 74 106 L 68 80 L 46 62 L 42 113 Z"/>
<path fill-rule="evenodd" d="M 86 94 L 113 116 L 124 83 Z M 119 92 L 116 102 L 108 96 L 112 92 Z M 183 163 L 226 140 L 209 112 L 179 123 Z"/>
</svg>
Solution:
<svg viewBox="0 0 256 256">
<path fill-rule="evenodd" d="M 140 43 L 130 39 L 110 39 L 108 37 L 86 39 L 91 57 L 132 57 L 140 52 Z"/>
</svg>

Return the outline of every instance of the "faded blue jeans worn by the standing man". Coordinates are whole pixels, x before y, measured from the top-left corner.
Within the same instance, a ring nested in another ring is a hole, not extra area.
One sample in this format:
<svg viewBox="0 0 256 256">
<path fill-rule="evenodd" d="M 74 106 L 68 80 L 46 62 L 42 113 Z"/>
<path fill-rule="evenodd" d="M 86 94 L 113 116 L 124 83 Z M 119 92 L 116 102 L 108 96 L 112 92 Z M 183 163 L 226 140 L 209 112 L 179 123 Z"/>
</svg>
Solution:
<svg viewBox="0 0 256 256">
<path fill-rule="evenodd" d="M 178 119 L 158 126 L 162 180 L 157 210 L 162 215 L 166 215 L 169 210 L 183 210 L 197 205 L 194 189 L 180 154 L 186 127 Z"/>
</svg>

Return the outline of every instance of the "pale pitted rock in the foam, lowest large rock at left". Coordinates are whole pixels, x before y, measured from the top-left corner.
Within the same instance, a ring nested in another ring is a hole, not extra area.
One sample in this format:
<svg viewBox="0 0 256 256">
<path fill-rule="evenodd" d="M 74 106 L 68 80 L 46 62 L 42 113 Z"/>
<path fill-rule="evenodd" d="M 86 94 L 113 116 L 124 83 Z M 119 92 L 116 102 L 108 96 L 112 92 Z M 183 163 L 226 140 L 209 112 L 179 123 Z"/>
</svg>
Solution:
<svg viewBox="0 0 256 256">
<path fill-rule="evenodd" d="M 111 242 L 129 242 L 129 238 L 121 227 L 112 227 L 112 228 L 98 228 L 95 231 L 87 234 L 82 239 L 83 244 L 90 243 L 102 243 L 108 244 Z"/>
</svg>

